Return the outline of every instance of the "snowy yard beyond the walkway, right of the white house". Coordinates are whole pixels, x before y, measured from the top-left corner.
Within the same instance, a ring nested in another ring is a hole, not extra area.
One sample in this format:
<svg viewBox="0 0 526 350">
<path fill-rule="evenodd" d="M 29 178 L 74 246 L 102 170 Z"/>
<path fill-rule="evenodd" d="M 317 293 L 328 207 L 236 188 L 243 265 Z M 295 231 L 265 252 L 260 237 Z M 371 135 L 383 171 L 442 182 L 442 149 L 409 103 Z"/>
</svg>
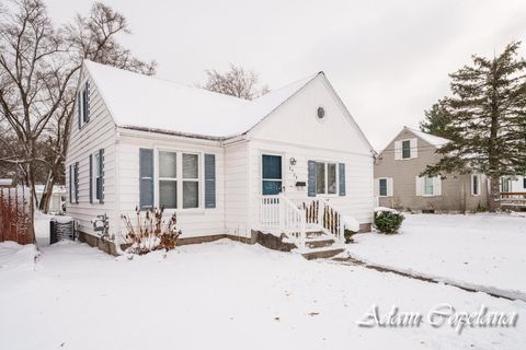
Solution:
<svg viewBox="0 0 526 350">
<path fill-rule="evenodd" d="M 361 260 L 526 300 L 526 219 L 407 214 L 398 235 L 358 234 Z"/>
</svg>

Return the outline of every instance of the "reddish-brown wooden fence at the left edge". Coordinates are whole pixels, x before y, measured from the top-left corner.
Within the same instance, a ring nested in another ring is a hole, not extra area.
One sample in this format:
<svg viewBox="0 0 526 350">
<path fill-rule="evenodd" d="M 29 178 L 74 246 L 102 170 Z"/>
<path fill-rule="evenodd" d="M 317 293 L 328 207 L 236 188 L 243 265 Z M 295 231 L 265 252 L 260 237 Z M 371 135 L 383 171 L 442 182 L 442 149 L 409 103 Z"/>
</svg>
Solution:
<svg viewBox="0 0 526 350">
<path fill-rule="evenodd" d="M 0 187 L 0 242 L 33 243 L 30 196 L 24 187 Z"/>
</svg>

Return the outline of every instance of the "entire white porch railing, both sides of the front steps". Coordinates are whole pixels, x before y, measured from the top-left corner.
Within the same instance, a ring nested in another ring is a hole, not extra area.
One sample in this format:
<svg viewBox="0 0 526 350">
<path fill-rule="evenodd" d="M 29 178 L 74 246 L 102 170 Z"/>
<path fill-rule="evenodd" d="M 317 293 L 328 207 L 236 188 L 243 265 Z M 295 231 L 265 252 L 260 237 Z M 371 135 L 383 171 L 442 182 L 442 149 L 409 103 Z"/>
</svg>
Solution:
<svg viewBox="0 0 526 350">
<path fill-rule="evenodd" d="M 323 198 L 305 198 L 293 202 L 285 195 L 260 196 L 258 223 L 261 230 L 285 233 L 305 246 L 307 226 L 323 231 L 334 241 L 344 242 L 342 213 Z"/>
</svg>

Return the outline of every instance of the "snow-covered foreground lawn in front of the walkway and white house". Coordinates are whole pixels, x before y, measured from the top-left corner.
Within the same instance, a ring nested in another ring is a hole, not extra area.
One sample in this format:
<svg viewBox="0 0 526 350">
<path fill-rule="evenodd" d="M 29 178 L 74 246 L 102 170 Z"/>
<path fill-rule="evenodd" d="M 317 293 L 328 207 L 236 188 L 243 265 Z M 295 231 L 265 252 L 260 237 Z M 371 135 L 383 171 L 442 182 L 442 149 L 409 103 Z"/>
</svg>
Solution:
<svg viewBox="0 0 526 350">
<path fill-rule="evenodd" d="M 43 247 L 36 264 L 33 254 L 0 244 L 1 349 L 450 350 L 526 343 L 524 302 L 227 240 L 183 246 L 165 258 L 113 258 L 73 242 Z M 425 320 L 442 303 L 519 317 L 516 327 L 468 327 L 459 335 Z M 381 317 L 392 305 L 422 313 L 424 324 L 359 327 L 371 305 Z"/>
</svg>

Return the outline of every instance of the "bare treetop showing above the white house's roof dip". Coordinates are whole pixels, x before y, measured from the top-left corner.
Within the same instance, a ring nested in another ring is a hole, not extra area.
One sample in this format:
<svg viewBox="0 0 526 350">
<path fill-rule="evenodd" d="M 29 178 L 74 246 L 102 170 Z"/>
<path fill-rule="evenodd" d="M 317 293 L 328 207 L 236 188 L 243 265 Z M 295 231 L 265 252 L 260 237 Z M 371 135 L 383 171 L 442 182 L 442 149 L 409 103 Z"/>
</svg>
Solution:
<svg viewBox="0 0 526 350">
<path fill-rule="evenodd" d="M 224 73 L 206 70 L 206 74 L 207 82 L 202 88 L 220 94 L 253 100 L 270 91 L 267 85 L 260 86 L 260 77 L 256 72 L 232 63 Z"/>
</svg>

